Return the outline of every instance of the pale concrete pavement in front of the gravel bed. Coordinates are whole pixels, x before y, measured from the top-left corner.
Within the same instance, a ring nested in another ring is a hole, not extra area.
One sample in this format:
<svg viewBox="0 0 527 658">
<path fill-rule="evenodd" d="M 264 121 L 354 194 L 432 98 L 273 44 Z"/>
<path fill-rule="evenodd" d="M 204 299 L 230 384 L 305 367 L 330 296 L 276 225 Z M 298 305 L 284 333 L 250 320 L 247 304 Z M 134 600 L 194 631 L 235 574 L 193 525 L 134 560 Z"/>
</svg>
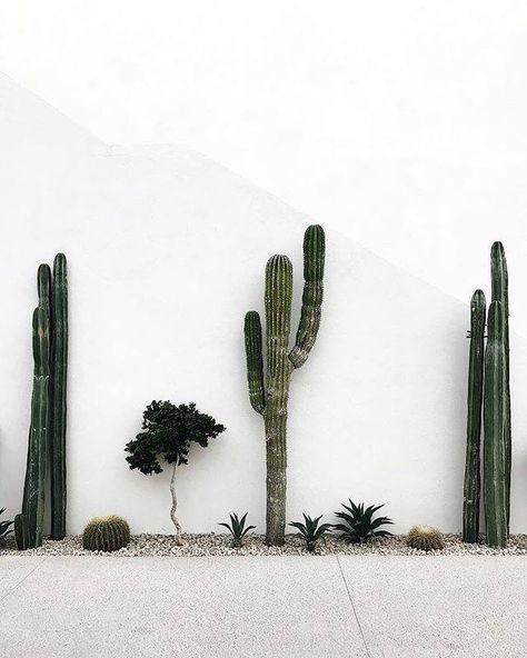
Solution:
<svg viewBox="0 0 527 658">
<path fill-rule="evenodd" d="M 2 658 L 516 658 L 527 558 L 0 554 Z"/>
</svg>

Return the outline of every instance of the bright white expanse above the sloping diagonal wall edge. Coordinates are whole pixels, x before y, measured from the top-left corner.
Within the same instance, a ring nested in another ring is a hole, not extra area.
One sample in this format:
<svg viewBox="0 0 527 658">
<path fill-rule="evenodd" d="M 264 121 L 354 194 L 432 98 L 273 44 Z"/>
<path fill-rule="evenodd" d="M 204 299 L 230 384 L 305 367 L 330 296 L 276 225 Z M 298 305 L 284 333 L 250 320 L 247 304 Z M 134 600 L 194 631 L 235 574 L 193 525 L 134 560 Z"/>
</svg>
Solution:
<svg viewBox="0 0 527 658">
<path fill-rule="evenodd" d="M 467 303 L 494 240 L 527 275 L 526 31 L 524 0 L 17 0 L 0 70 L 109 143 L 189 144 Z"/>
</svg>

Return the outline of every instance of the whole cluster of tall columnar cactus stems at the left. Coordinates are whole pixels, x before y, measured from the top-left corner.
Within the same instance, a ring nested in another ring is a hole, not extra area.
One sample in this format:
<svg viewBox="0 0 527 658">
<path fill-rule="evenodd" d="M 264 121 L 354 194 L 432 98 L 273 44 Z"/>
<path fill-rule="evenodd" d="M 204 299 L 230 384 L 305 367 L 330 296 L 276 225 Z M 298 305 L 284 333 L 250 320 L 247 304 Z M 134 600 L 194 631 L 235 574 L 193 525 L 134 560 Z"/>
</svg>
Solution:
<svg viewBox="0 0 527 658">
<path fill-rule="evenodd" d="M 58 253 L 53 276 L 41 265 L 39 305 L 33 311 L 33 389 L 22 511 L 14 518 L 19 549 L 41 546 L 46 475 L 51 473 L 51 537 L 66 536 L 66 381 L 68 289 L 66 257 Z"/>
</svg>

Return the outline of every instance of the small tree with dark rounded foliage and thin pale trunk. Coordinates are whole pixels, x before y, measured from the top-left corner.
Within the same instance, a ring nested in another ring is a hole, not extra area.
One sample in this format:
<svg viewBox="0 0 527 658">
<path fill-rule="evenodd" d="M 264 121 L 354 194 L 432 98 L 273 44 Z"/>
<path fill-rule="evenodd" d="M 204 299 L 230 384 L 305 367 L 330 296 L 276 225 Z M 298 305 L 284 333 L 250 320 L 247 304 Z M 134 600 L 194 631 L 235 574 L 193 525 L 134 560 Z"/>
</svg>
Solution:
<svg viewBox="0 0 527 658">
<path fill-rule="evenodd" d="M 137 468 L 145 475 L 162 472 L 160 459 L 172 465 L 170 518 L 176 527 L 176 541 L 181 545 L 181 525 L 176 516 L 176 470 L 179 465 L 188 463 L 191 441 L 206 448 L 209 439 L 216 438 L 226 428 L 211 416 L 200 413 L 193 402 L 176 406 L 170 401 L 155 400 L 142 413 L 142 429 L 145 431 L 139 432 L 125 448 L 130 453 L 127 461 L 131 469 Z"/>
</svg>

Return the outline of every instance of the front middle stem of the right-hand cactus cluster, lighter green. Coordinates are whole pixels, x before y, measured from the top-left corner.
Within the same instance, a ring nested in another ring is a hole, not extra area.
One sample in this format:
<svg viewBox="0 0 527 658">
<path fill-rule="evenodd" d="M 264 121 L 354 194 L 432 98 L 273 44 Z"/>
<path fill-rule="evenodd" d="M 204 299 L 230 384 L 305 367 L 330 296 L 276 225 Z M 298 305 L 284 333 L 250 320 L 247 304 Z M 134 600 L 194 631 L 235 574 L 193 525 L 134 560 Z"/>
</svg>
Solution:
<svg viewBox="0 0 527 658">
<path fill-rule="evenodd" d="M 505 313 L 500 301 L 488 310 L 484 391 L 484 506 L 487 544 L 504 547 L 507 541 L 507 450 L 505 427 L 506 340 Z"/>
</svg>

